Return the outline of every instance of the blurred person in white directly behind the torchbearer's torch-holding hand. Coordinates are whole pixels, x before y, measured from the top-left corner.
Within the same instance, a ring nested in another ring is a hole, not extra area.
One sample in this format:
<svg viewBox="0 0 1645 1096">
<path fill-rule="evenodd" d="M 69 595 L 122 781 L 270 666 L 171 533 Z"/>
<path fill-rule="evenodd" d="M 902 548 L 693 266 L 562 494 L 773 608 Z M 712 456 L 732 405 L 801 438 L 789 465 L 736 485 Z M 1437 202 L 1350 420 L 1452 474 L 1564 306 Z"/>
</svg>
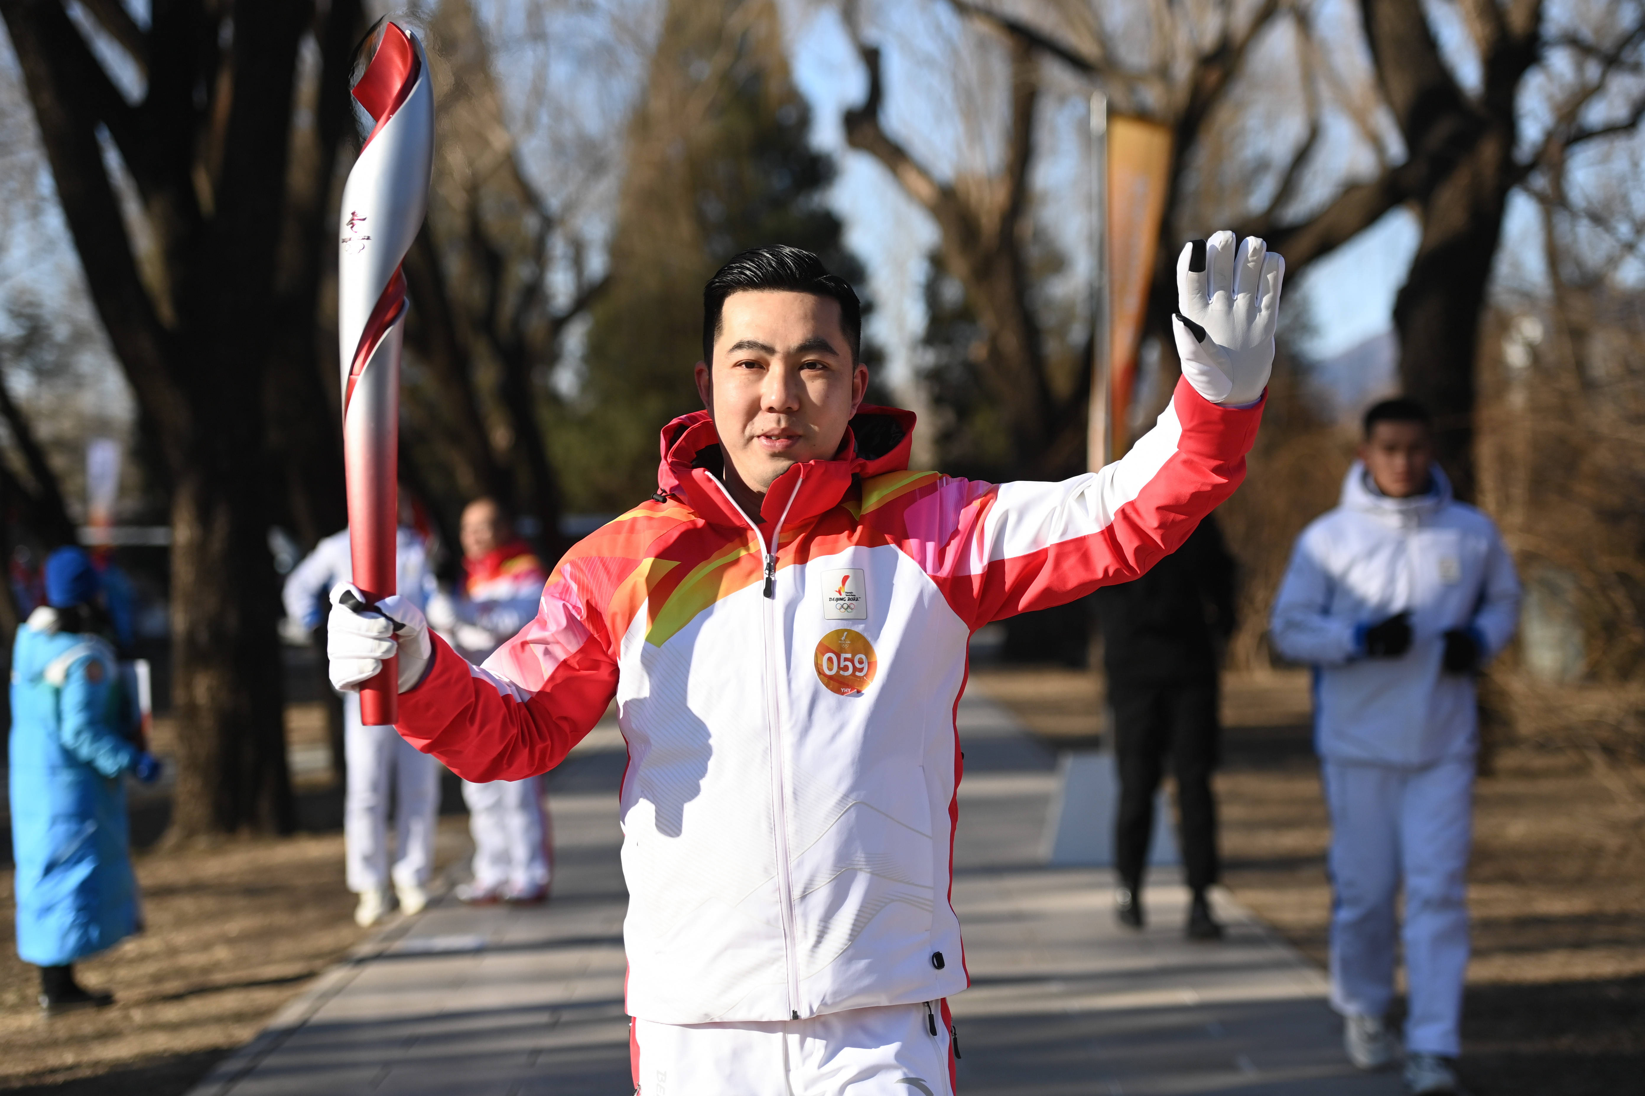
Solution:
<svg viewBox="0 0 1645 1096">
<path fill-rule="evenodd" d="M 423 534 L 410 526 L 410 506 L 401 496 L 395 542 L 400 596 L 418 608 L 434 593 Z M 298 564 L 283 592 L 286 618 L 304 634 L 324 619 L 332 587 L 350 580 L 349 531 L 334 532 Z M 406 914 L 428 905 L 428 879 L 434 869 L 434 823 L 439 813 L 439 762 L 406 744 L 392 726 L 360 723 L 360 693 L 342 692 L 342 741 L 347 787 L 342 805 L 344 863 L 349 889 L 360 896 L 354 920 L 368 927 L 382 920 L 393 897 Z M 395 790 L 395 859 L 388 861 L 388 797 Z"/>
</svg>

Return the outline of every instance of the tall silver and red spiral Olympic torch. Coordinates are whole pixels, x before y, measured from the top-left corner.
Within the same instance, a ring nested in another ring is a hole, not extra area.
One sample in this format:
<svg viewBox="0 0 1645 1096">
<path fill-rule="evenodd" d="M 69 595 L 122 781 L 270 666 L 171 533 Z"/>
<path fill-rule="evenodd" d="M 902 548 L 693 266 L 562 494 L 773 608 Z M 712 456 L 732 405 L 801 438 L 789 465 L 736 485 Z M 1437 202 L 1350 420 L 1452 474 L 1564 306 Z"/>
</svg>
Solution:
<svg viewBox="0 0 1645 1096">
<path fill-rule="evenodd" d="M 406 317 L 400 261 L 428 209 L 434 94 L 428 58 L 415 35 L 395 23 L 378 23 L 362 48 L 362 58 L 367 54 L 370 61 L 354 82 L 354 99 L 375 127 L 342 187 L 337 348 L 349 552 L 354 585 L 375 605 L 398 585 L 400 348 Z M 382 674 L 360 687 L 360 721 L 367 726 L 395 721 L 398 670 L 398 659 L 390 659 Z"/>
</svg>

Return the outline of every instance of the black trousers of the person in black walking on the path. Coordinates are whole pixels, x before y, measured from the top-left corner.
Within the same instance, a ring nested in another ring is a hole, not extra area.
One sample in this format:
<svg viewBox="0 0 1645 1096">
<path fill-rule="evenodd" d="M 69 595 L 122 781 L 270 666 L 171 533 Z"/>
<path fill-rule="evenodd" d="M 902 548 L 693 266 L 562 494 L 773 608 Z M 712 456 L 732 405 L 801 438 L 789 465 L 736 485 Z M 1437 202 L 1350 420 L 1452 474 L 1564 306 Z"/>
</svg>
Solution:
<svg viewBox="0 0 1645 1096">
<path fill-rule="evenodd" d="M 1147 682 L 1109 677 L 1114 705 L 1114 754 L 1120 774 L 1120 810 L 1114 822 L 1114 866 L 1120 879 L 1142 882 L 1153 835 L 1153 797 L 1165 759 L 1176 777 L 1178 838 L 1188 886 L 1217 881 L 1217 805 L 1211 774 L 1217 767 L 1217 679 Z"/>
</svg>

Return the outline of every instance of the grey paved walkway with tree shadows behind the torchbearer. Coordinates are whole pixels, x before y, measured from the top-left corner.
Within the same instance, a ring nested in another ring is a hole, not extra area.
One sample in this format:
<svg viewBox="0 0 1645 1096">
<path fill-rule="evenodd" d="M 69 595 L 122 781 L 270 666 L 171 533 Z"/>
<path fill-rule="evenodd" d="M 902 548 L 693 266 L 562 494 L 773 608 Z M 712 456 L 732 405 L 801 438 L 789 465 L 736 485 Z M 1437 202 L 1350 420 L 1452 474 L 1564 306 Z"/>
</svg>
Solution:
<svg viewBox="0 0 1645 1096">
<path fill-rule="evenodd" d="M 1232 902 L 1219 904 L 1229 938 L 1193 945 L 1171 869 L 1155 873 L 1150 928 L 1133 933 L 1114 923 L 1107 869 L 1040 866 L 1054 759 L 987 700 L 961 705 L 961 735 L 954 905 L 974 984 L 952 1009 L 966 1096 L 1400 1091 L 1347 1066 L 1321 974 Z M 554 772 L 548 907 L 446 897 L 392 925 L 194 1096 L 627 1094 L 622 764 L 622 738 L 602 725 Z"/>
</svg>

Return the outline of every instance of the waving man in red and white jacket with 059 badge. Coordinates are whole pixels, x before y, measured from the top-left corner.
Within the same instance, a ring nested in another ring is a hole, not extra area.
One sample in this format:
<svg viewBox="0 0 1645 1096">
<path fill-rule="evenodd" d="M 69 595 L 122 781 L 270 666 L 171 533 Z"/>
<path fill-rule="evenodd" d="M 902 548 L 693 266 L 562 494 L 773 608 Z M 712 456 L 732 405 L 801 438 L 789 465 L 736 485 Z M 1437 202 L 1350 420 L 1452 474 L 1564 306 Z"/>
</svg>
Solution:
<svg viewBox="0 0 1645 1096">
<path fill-rule="evenodd" d="M 850 286 L 745 251 L 704 291 L 707 411 L 663 429 L 656 495 L 485 665 L 403 600 L 398 634 L 334 600 L 332 682 L 398 649 L 400 733 L 464 779 L 553 767 L 615 698 L 640 1093 L 952 1093 L 967 641 L 1135 578 L 1234 491 L 1281 278 L 1260 240 L 1184 248 L 1155 429 L 1099 473 L 995 485 L 910 470 L 913 414 L 862 404 Z"/>
</svg>

